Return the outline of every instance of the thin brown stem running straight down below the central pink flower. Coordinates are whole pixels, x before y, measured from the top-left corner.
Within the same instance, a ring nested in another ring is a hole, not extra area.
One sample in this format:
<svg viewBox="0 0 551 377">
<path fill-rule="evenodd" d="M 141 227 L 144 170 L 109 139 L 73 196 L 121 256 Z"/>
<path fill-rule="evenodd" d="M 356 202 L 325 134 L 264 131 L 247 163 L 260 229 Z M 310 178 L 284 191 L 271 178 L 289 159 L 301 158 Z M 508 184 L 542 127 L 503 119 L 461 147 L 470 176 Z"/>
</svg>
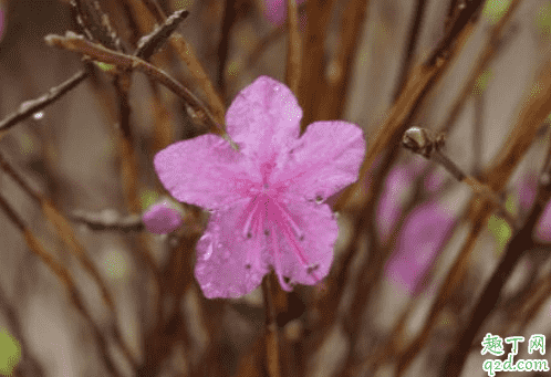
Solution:
<svg viewBox="0 0 551 377">
<path fill-rule="evenodd" d="M 278 325 L 276 323 L 276 311 L 273 307 L 269 276 L 264 276 L 262 280 L 262 295 L 264 296 L 266 308 L 266 356 L 268 374 L 270 377 L 280 377 Z"/>
</svg>

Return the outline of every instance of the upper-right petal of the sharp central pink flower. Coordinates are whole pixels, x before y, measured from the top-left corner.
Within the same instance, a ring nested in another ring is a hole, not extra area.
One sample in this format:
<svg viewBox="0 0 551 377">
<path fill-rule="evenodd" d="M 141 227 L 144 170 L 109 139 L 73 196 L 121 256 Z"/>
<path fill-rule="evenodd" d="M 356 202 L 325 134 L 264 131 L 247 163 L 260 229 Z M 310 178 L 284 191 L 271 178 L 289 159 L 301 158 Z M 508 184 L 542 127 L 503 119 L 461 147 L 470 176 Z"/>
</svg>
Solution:
<svg viewBox="0 0 551 377">
<path fill-rule="evenodd" d="M 288 156 L 274 180 L 308 200 L 325 200 L 354 182 L 365 155 L 363 132 L 355 124 L 314 122 Z"/>
</svg>

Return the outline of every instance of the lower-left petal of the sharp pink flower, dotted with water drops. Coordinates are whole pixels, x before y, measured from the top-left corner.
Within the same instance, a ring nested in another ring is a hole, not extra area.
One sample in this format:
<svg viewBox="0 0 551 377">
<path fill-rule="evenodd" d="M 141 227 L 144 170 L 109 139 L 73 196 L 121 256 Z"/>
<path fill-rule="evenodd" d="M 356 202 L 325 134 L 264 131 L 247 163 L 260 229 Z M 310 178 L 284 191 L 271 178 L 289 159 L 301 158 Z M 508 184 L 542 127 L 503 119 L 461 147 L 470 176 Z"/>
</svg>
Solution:
<svg viewBox="0 0 551 377">
<path fill-rule="evenodd" d="M 207 299 L 240 297 L 259 286 L 268 273 L 263 232 L 256 233 L 260 239 L 243 241 L 237 231 L 236 224 L 242 222 L 248 205 L 243 200 L 214 212 L 197 243 L 195 277 Z"/>
</svg>

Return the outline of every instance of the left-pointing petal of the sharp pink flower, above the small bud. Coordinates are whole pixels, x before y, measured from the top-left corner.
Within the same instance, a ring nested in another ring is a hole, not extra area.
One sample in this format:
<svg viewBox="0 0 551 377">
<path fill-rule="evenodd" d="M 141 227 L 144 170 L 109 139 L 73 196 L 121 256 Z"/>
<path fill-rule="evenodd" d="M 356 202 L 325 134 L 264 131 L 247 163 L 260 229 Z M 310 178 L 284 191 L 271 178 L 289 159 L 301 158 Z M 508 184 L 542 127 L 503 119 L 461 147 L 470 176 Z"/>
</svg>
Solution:
<svg viewBox="0 0 551 377">
<path fill-rule="evenodd" d="M 175 143 L 154 159 L 163 186 L 174 198 L 207 209 L 241 197 L 253 179 L 249 164 L 228 142 L 210 134 Z"/>
</svg>

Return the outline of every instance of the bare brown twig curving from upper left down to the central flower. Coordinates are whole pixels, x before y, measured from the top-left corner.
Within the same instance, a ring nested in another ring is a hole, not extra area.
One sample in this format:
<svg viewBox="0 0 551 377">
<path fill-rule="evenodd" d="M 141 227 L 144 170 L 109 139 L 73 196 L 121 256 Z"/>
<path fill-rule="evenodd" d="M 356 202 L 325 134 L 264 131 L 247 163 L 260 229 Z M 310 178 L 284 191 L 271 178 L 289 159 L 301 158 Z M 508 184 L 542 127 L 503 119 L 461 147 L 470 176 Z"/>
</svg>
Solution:
<svg viewBox="0 0 551 377">
<path fill-rule="evenodd" d="M 202 115 L 205 123 L 207 123 L 210 128 L 210 132 L 223 135 L 222 127 L 215 121 L 212 114 L 199 98 L 197 98 L 179 82 L 146 61 L 136 56 L 108 50 L 100 44 L 86 41 L 82 35 L 77 35 L 70 31 L 66 32 L 65 36 L 53 34 L 46 35 L 45 41 L 49 45 L 74 51 L 103 63 L 114 64 L 125 70 L 137 70 L 145 73 L 148 77 L 158 81 L 177 96 L 183 98 L 197 114 Z"/>
</svg>

